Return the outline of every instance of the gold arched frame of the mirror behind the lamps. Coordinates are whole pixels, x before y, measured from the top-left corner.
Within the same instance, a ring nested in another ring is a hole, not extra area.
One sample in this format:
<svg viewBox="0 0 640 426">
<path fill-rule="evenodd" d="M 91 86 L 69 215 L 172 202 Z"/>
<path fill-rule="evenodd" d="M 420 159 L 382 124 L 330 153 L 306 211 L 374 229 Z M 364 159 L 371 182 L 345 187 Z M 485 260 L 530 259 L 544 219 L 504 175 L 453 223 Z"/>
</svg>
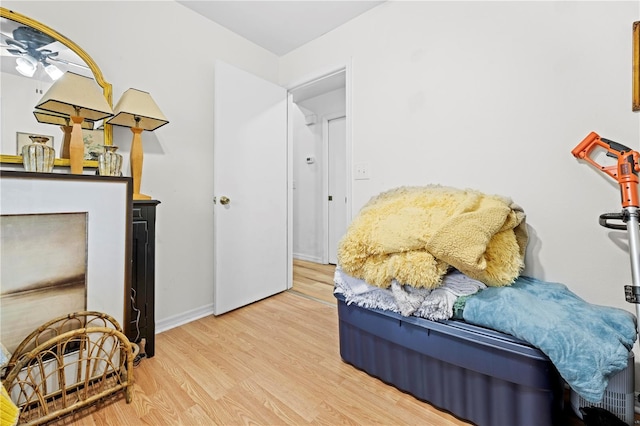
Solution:
<svg viewBox="0 0 640 426">
<path fill-rule="evenodd" d="M 111 88 L 111 83 L 105 81 L 102 76 L 102 71 L 98 64 L 89 56 L 87 52 L 84 51 L 80 46 L 75 44 L 73 41 L 69 40 L 53 28 L 49 28 L 48 26 L 29 18 L 28 16 L 22 15 L 20 13 L 14 12 L 4 7 L 0 7 L 0 18 L 10 19 L 12 21 L 18 22 L 20 24 L 28 25 L 32 28 L 37 29 L 38 31 L 43 32 L 44 34 L 54 38 L 60 43 L 67 46 L 70 50 L 75 52 L 82 60 L 85 61 L 91 72 L 93 72 L 93 76 L 96 80 L 96 83 L 100 87 L 102 87 L 102 92 L 104 93 L 104 97 L 107 99 L 107 102 L 110 106 L 113 106 L 113 93 Z M 113 144 L 113 129 L 110 124 L 104 124 L 104 144 L 112 145 Z M 11 164 L 22 164 L 22 157 L 20 155 L 5 155 L 0 153 L 0 163 L 11 163 Z M 68 158 L 56 158 L 55 166 L 63 166 L 69 167 L 69 159 Z M 97 160 L 85 160 L 83 162 L 83 167 L 98 167 Z"/>
</svg>

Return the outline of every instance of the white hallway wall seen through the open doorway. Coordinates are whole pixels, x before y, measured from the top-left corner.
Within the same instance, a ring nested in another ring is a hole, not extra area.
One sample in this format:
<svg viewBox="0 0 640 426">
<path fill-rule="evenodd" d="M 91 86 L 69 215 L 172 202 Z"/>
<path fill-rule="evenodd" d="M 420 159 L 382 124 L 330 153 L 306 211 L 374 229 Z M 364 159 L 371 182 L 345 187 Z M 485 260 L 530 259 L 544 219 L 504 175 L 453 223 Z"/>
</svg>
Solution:
<svg viewBox="0 0 640 426">
<path fill-rule="evenodd" d="M 345 102 L 345 89 L 338 89 L 294 104 L 293 257 L 298 259 L 318 263 L 324 260 L 323 168 L 327 159 L 322 119 L 331 114 L 345 114 Z M 310 114 L 316 116 L 316 123 L 306 125 L 305 116 Z M 315 162 L 308 164 L 307 157 L 314 157 Z"/>
</svg>

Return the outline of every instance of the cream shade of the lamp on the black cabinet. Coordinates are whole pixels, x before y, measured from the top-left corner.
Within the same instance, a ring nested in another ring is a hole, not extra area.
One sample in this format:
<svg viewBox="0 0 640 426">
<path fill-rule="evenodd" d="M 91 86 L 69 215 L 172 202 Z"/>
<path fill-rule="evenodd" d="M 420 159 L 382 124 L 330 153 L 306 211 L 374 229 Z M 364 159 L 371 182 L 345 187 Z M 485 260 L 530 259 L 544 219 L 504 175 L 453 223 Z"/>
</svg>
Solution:
<svg viewBox="0 0 640 426">
<path fill-rule="evenodd" d="M 128 89 L 122 94 L 115 107 L 115 115 L 107 120 L 109 124 L 155 130 L 169 121 L 147 92 Z"/>
</svg>

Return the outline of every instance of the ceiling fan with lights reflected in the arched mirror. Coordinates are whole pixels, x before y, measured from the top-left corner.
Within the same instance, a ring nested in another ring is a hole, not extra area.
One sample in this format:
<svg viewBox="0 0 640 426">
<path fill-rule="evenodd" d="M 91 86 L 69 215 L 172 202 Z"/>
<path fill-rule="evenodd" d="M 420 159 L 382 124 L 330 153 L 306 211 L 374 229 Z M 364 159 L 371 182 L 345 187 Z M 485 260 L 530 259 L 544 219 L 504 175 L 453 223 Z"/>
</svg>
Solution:
<svg viewBox="0 0 640 426">
<path fill-rule="evenodd" d="M 6 52 L 17 56 L 16 70 L 26 77 L 33 77 L 38 64 L 42 65 L 53 80 L 62 77 L 64 73 L 52 62 L 87 68 L 84 64 L 80 65 L 59 58 L 59 52 L 50 48 L 56 40 L 35 28 L 19 26 L 11 32 L 11 37 L 2 34 L 2 42 Z"/>
</svg>

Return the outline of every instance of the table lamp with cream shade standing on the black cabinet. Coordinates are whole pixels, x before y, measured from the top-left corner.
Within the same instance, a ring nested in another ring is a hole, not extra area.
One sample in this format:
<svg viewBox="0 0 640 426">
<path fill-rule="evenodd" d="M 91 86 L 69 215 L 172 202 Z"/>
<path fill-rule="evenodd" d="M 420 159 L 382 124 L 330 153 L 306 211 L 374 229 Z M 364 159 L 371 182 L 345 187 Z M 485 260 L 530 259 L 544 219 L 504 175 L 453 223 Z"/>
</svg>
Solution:
<svg viewBox="0 0 640 426">
<path fill-rule="evenodd" d="M 158 105 L 151 98 L 151 95 L 137 89 L 128 89 L 122 94 L 116 104 L 115 115 L 107 120 L 108 124 L 130 127 L 133 132 L 130 161 L 134 200 L 151 199 L 150 196 L 140 193 L 144 157 L 141 133 L 143 130 L 153 131 L 168 122 Z"/>
</svg>

